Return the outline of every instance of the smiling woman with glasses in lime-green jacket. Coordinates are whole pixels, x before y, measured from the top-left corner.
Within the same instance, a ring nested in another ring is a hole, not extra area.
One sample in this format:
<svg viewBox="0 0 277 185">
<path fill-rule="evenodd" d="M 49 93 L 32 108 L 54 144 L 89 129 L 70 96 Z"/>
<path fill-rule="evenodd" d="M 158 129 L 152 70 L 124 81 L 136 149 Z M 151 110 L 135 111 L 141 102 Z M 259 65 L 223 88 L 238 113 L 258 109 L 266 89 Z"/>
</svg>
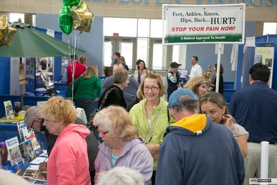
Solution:
<svg viewBox="0 0 277 185">
<path fill-rule="evenodd" d="M 149 71 L 141 82 L 139 90 L 145 96 L 145 99 L 134 105 L 129 114 L 139 131 L 139 137 L 145 140 L 145 144 L 154 159 L 152 175 L 152 184 L 154 184 L 160 144 L 163 141 L 166 127 L 169 125 L 168 103 L 161 98 L 164 86 L 158 73 Z"/>
</svg>

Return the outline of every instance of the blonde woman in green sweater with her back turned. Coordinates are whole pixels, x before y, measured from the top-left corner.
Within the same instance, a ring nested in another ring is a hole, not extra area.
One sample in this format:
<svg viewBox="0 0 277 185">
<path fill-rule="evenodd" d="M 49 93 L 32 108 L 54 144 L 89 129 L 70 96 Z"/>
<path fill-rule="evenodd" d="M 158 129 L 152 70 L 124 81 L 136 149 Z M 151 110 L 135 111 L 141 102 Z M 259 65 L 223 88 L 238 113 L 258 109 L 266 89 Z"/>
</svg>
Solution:
<svg viewBox="0 0 277 185">
<path fill-rule="evenodd" d="M 94 102 L 101 95 L 102 82 L 98 77 L 98 67 L 96 64 L 90 64 L 82 76 L 71 82 L 67 89 L 67 97 L 73 96 L 75 107 L 84 109 L 89 121 L 89 116 L 94 110 Z"/>
</svg>

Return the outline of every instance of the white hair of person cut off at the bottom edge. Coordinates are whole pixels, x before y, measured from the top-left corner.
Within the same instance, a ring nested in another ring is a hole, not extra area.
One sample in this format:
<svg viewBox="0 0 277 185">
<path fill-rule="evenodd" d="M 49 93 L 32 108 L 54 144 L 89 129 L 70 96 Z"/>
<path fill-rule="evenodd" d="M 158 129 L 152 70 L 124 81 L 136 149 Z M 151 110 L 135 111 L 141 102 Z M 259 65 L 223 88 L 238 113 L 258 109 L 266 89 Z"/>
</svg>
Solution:
<svg viewBox="0 0 277 185">
<path fill-rule="evenodd" d="M 143 175 L 126 167 L 115 167 L 98 177 L 98 185 L 143 185 Z"/>
</svg>

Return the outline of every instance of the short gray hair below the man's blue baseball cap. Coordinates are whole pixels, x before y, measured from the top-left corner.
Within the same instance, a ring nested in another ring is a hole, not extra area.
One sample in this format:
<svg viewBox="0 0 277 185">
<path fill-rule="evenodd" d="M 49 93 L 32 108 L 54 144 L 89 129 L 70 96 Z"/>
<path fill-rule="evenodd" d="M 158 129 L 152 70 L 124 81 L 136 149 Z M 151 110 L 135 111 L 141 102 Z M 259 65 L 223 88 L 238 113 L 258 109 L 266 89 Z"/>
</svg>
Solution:
<svg viewBox="0 0 277 185">
<path fill-rule="evenodd" d="M 175 111 L 178 113 L 184 111 L 199 113 L 199 100 L 195 100 L 189 95 L 183 95 L 178 98 L 178 101 L 181 103 L 181 105 L 172 107 L 172 109 L 175 109 Z"/>
</svg>

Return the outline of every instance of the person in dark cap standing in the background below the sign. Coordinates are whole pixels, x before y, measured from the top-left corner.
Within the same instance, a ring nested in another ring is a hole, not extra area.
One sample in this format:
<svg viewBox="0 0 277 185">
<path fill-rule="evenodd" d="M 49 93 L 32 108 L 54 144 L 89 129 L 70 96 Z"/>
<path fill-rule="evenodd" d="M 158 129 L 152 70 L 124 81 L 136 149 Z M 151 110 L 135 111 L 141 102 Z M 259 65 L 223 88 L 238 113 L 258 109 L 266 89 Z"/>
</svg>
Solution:
<svg viewBox="0 0 277 185">
<path fill-rule="evenodd" d="M 178 87 L 181 87 L 179 82 L 180 75 L 178 72 L 180 66 L 181 64 L 177 62 L 171 62 L 170 64 L 170 69 L 168 70 L 168 99 L 172 92 L 178 89 Z"/>
</svg>

